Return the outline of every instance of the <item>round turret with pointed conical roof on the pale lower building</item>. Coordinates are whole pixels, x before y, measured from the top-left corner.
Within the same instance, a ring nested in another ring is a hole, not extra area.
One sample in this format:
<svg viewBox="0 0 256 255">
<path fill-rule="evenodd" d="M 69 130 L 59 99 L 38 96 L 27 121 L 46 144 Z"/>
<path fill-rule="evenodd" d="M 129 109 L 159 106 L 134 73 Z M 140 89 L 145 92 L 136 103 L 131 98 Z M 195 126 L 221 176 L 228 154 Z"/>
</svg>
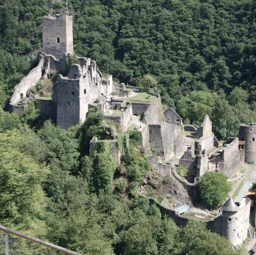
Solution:
<svg viewBox="0 0 256 255">
<path fill-rule="evenodd" d="M 234 245 L 239 239 L 238 232 L 238 217 L 237 212 L 239 207 L 232 198 L 222 205 L 222 236 L 225 236 Z"/>
</svg>

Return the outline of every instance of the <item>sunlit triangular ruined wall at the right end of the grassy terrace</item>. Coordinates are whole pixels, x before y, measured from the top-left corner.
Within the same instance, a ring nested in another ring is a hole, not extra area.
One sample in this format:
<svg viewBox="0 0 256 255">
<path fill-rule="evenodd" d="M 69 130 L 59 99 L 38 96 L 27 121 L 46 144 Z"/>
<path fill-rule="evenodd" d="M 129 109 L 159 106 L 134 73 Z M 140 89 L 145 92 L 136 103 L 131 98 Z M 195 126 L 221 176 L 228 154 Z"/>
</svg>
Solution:
<svg viewBox="0 0 256 255">
<path fill-rule="evenodd" d="M 133 110 L 134 112 L 134 110 Z M 143 114 L 142 121 L 147 124 L 161 124 L 165 120 L 163 113 L 163 105 L 161 97 L 158 96 L 156 100 L 151 102 L 146 111 Z"/>
</svg>

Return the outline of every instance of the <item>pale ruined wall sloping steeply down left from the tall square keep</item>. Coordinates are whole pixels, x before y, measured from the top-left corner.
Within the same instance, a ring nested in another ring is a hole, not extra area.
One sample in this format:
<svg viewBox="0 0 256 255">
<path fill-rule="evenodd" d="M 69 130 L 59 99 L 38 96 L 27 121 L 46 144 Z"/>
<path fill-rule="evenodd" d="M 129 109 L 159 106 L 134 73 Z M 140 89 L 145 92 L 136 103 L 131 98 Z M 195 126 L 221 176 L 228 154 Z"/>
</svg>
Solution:
<svg viewBox="0 0 256 255">
<path fill-rule="evenodd" d="M 32 69 L 28 73 L 28 75 L 23 77 L 20 83 L 14 87 L 14 92 L 12 94 L 10 104 L 12 105 L 17 104 L 21 100 L 22 96 L 23 98 L 26 97 L 28 89 L 36 85 L 37 81 L 39 81 L 39 79 L 42 77 L 43 64 L 44 64 L 44 58 L 42 55 L 40 55 L 39 63 L 37 67 Z"/>
</svg>

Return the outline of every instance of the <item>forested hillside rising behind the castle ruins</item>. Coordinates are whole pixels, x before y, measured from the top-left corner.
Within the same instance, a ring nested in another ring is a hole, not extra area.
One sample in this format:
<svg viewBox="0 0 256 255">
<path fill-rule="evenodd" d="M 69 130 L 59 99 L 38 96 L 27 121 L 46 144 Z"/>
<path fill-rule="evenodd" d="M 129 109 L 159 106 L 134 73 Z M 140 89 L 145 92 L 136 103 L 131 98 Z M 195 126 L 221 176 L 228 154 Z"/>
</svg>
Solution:
<svg viewBox="0 0 256 255">
<path fill-rule="evenodd" d="M 42 16 L 60 12 L 65 1 L 0 4 L 4 106 L 30 68 L 24 55 L 41 50 Z M 199 124 L 208 113 L 215 134 L 225 138 L 237 135 L 239 123 L 256 121 L 254 0 L 84 0 L 69 1 L 69 11 L 76 54 L 129 85 L 146 73 L 155 76 L 163 102 L 186 123 Z M 195 114 L 198 107 L 202 114 Z"/>
</svg>

